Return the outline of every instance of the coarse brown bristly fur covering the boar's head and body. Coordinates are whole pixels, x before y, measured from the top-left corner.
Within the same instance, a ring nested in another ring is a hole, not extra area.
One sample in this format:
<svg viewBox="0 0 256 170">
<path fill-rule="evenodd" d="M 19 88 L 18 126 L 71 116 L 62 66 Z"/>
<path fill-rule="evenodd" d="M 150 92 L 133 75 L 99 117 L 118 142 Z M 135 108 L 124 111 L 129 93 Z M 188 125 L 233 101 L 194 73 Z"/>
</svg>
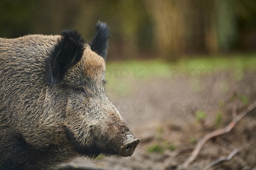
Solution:
<svg viewBox="0 0 256 170">
<path fill-rule="evenodd" d="M 79 155 L 119 155 L 131 134 L 106 95 L 105 60 L 90 45 L 75 48 L 79 40 L 70 38 L 81 57 L 70 60 L 63 78 L 50 78 L 49 57 L 61 38 L 0 38 L 0 169 L 54 169 Z"/>
</svg>

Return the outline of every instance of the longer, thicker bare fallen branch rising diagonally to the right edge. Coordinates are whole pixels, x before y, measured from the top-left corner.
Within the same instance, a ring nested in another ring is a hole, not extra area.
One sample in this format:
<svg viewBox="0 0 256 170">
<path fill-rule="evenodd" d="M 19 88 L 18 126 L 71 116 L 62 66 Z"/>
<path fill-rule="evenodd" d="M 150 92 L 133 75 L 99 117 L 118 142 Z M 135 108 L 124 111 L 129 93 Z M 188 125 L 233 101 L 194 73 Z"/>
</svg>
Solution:
<svg viewBox="0 0 256 170">
<path fill-rule="evenodd" d="M 249 105 L 247 107 L 246 110 L 242 111 L 240 114 L 238 114 L 237 116 L 235 116 L 233 118 L 233 121 L 230 122 L 229 125 L 227 125 L 226 127 L 222 128 L 222 129 L 218 129 L 218 130 L 214 130 L 213 132 L 208 133 L 206 136 L 204 136 L 204 139 L 202 140 L 202 142 L 197 143 L 197 145 L 195 146 L 195 150 L 192 152 L 192 154 L 190 155 L 190 157 L 183 163 L 183 167 L 187 168 L 189 164 L 191 164 L 195 158 L 198 156 L 198 153 L 200 152 L 201 148 L 204 146 L 204 144 L 209 140 L 212 139 L 215 136 L 220 136 L 223 135 L 225 133 L 229 133 L 234 127 L 235 125 L 247 114 L 250 113 L 251 111 L 253 111 L 256 108 L 256 102 L 253 102 L 253 104 Z M 234 114 L 233 114 L 234 115 Z"/>
</svg>

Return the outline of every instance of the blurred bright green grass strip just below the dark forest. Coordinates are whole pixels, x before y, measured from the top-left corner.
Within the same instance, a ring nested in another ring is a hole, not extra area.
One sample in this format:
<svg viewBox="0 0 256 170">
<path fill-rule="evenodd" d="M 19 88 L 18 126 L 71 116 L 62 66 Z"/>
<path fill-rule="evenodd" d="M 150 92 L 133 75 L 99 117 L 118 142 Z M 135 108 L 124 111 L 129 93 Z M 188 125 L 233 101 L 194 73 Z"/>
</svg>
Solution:
<svg viewBox="0 0 256 170">
<path fill-rule="evenodd" d="M 237 76 L 241 76 L 244 70 L 255 69 L 256 54 L 235 54 L 232 56 L 196 56 L 192 58 L 180 59 L 176 62 L 166 62 L 160 59 L 152 60 L 128 60 L 118 62 L 107 62 L 107 73 L 109 78 L 151 78 L 153 76 L 166 77 L 170 75 L 172 69 L 221 69 L 221 77 L 228 73 L 228 70 L 236 71 Z M 126 74 L 128 71 L 128 75 Z M 199 73 L 199 72 L 198 72 Z M 123 75 L 122 75 L 123 74 Z M 220 73 L 219 73 L 220 74 Z"/>
</svg>

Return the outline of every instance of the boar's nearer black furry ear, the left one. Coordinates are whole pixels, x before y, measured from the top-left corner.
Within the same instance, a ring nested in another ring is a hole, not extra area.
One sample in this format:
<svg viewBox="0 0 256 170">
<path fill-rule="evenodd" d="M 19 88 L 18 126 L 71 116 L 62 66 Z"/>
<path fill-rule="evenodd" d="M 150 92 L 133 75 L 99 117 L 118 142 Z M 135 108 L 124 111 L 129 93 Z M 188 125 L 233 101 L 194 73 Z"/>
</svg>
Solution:
<svg viewBox="0 0 256 170">
<path fill-rule="evenodd" d="M 81 59 L 84 39 L 73 29 L 61 31 L 61 38 L 49 57 L 48 73 L 51 83 L 60 83 L 66 71 Z"/>
</svg>

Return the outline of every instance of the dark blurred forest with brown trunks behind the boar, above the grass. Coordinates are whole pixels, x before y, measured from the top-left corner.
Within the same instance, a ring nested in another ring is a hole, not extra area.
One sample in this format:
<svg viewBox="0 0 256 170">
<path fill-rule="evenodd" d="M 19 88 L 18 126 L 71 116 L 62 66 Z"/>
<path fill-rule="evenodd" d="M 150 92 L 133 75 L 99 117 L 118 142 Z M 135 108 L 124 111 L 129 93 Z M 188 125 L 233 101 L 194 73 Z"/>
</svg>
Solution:
<svg viewBox="0 0 256 170">
<path fill-rule="evenodd" d="M 108 59 L 255 51 L 254 0 L 1 0 L 0 37 L 79 30 L 87 41 L 108 23 Z"/>
</svg>

